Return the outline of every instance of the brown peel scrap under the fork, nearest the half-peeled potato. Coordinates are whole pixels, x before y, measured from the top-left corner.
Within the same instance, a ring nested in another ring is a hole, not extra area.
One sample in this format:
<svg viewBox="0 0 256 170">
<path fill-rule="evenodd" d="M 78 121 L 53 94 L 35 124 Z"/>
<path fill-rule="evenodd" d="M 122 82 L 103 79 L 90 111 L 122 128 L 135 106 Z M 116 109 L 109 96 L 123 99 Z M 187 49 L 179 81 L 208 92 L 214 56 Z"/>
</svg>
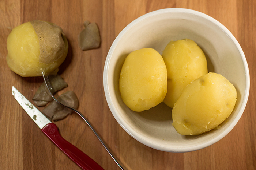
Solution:
<svg viewBox="0 0 256 170">
<path fill-rule="evenodd" d="M 53 87 L 53 94 L 56 91 L 59 91 L 68 86 L 68 84 L 58 74 L 49 75 L 49 80 Z M 37 106 L 45 106 L 48 102 L 51 102 L 53 100 L 52 96 L 48 92 L 45 82 L 43 82 L 38 88 L 37 92 L 35 92 L 32 100 Z"/>
</svg>

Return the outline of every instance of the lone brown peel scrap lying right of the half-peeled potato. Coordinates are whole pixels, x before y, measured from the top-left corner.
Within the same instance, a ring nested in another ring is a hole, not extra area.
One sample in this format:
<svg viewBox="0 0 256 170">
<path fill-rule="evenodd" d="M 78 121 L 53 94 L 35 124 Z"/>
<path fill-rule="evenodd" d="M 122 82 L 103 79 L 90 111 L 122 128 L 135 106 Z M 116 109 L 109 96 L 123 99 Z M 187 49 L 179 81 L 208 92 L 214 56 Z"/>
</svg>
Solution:
<svg viewBox="0 0 256 170">
<path fill-rule="evenodd" d="M 82 50 L 98 48 L 101 43 L 99 28 L 96 23 L 84 22 L 84 29 L 78 36 L 79 46 Z"/>
</svg>

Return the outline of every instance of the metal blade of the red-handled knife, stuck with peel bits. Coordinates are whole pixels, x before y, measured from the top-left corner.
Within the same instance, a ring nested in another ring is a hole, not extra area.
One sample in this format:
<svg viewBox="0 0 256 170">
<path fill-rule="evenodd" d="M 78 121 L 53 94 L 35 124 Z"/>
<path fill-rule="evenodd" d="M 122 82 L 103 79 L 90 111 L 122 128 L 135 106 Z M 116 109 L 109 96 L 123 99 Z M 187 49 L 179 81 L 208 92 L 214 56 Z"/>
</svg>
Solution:
<svg viewBox="0 0 256 170">
<path fill-rule="evenodd" d="M 12 86 L 12 95 L 40 129 L 45 127 L 46 124 L 52 123 L 32 103 L 30 103 L 29 100 L 26 99 L 14 86 Z"/>
</svg>

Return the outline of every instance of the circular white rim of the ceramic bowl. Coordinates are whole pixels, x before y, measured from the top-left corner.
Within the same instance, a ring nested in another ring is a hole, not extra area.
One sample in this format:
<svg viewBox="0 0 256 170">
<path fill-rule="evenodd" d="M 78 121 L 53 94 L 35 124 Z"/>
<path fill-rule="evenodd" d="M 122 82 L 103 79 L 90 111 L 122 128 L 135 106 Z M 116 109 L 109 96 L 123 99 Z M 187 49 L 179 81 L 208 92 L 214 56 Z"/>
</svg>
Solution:
<svg viewBox="0 0 256 170">
<path fill-rule="evenodd" d="M 120 39 L 122 38 L 122 36 L 125 35 L 125 33 L 127 31 L 129 31 L 129 29 L 131 27 L 133 27 L 133 25 L 135 25 L 136 23 L 154 16 L 154 15 L 159 15 L 159 14 L 163 14 L 163 13 L 187 13 L 187 14 L 192 14 L 192 15 L 196 15 L 196 16 L 200 16 L 203 17 L 204 19 L 211 21 L 212 23 L 214 23 L 215 25 L 217 25 L 220 29 L 222 29 L 223 32 L 225 32 L 227 34 L 227 36 L 230 37 L 230 39 L 234 42 L 235 46 L 237 47 L 241 58 L 242 58 L 242 62 L 244 64 L 244 69 L 245 69 L 245 80 L 246 80 L 246 85 L 245 85 L 245 94 L 244 94 L 244 100 L 242 101 L 241 104 L 241 108 L 238 111 L 238 114 L 236 115 L 236 117 L 234 118 L 233 122 L 230 124 L 229 127 L 227 127 L 221 134 L 219 134 L 217 137 L 199 144 L 199 145 L 195 145 L 195 146 L 189 146 L 189 147 L 165 147 L 165 146 L 159 146 L 156 145 L 156 143 L 147 141 L 145 139 L 143 139 L 143 137 L 141 137 L 138 133 L 136 133 L 136 131 L 130 130 L 128 125 L 125 122 L 121 122 L 120 120 L 120 116 L 117 113 L 116 108 L 114 107 L 114 105 L 112 104 L 112 98 L 110 96 L 109 93 L 109 84 L 108 84 L 108 74 L 109 74 L 109 63 L 110 63 L 110 59 L 111 56 L 114 52 L 114 49 L 116 48 L 118 42 L 120 41 Z M 105 92 L 105 97 L 106 97 L 106 101 L 108 103 L 109 109 L 112 112 L 112 115 L 114 116 L 114 118 L 116 119 L 116 121 L 118 122 L 118 124 L 129 134 L 131 135 L 131 137 L 135 138 L 137 141 L 139 141 L 140 143 L 143 143 L 144 145 L 157 149 L 157 150 L 161 150 L 161 151 L 167 151 L 167 152 L 189 152 L 189 151 L 195 151 L 195 150 L 199 150 L 199 149 L 203 149 L 205 147 L 208 147 L 216 142 L 218 142 L 219 140 L 221 140 L 223 137 L 225 137 L 233 128 L 234 126 L 236 126 L 238 120 L 241 118 L 245 107 L 246 107 L 246 103 L 248 101 L 248 97 L 249 97 L 249 90 L 250 90 L 250 76 L 249 76 L 249 68 L 248 68 L 248 63 L 246 61 L 244 52 L 240 46 L 240 44 L 238 43 L 238 41 L 236 40 L 236 38 L 233 36 L 233 34 L 224 26 L 222 25 L 219 21 L 215 20 L 214 18 L 208 16 L 207 14 L 204 14 L 202 12 L 199 11 L 195 11 L 192 9 L 185 9 L 185 8 L 165 8 L 165 9 L 159 9 L 153 12 L 149 12 L 146 13 L 140 17 L 138 17 L 137 19 L 133 20 L 130 24 L 128 24 L 116 37 L 116 39 L 113 41 L 112 46 L 109 49 L 108 55 L 106 57 L 106 61 L 105 61 L 105 65 L 104 65 L 104 70 L 103 70 L 103 86 L 104 86 L 104 92 Z"/>
</svg>

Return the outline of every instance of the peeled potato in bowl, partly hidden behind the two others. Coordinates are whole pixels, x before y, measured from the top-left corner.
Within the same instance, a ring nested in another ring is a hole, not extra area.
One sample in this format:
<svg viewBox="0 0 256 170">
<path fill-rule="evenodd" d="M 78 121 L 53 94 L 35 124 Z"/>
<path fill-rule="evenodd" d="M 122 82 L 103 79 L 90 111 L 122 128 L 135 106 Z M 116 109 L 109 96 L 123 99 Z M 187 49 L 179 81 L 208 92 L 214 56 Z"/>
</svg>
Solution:
<svg viewBox="0 0 256 170">
<path fill-rule="evenodd" d="M 207 62 L 203 51 L 189 39 L 171 41 L 162 54 L 167 68 L 167 94 L 163 102 L 173 108 L 183 89 L 206 74 Z"/>
</svg>

